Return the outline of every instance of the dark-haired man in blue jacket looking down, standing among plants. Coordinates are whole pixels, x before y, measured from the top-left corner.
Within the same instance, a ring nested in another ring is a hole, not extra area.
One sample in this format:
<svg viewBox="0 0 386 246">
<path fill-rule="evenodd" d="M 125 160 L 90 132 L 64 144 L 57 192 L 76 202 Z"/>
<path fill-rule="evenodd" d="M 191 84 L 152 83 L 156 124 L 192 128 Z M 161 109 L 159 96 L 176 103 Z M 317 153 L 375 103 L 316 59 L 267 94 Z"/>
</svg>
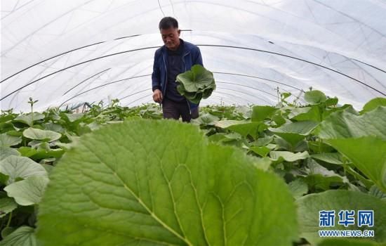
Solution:
<svg viewBox="0 0 386 246">
<path fill-rule="evenodd" d="M 162 104 L 165 119 L 180 119 L 190 122 L 199 117 L 199 105 L 187 101 L 177 91 L 175 78 L 182 72 L 190 70 L 192 65 L 203 65 L 199 47 L 180 39 L 181 30 L 178 21 L 164 17 L 159 22 L 164 46 L 154 55 L 152 73 L 153 100 Z"/>
</svg>

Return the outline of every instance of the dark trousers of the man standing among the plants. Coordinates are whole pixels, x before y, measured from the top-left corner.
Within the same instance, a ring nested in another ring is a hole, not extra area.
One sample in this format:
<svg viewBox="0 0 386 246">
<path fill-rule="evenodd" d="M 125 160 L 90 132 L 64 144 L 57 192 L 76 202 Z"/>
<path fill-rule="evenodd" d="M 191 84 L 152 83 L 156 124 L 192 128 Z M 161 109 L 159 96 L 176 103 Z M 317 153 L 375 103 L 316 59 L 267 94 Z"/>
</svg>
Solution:
<svg viewBox="0 0 386 246">
<path fill-rule="evenodd" d="M 180 119 L 182 117 L 182 122 L 190 122 L 190 119 L 199 117 L 199 108 L 195 108 L 190 112 L 186 101 L 176 103 L 168 98 L 164 98 L 162 101 L 162 112 L 164 119 Z"/>
</svg>

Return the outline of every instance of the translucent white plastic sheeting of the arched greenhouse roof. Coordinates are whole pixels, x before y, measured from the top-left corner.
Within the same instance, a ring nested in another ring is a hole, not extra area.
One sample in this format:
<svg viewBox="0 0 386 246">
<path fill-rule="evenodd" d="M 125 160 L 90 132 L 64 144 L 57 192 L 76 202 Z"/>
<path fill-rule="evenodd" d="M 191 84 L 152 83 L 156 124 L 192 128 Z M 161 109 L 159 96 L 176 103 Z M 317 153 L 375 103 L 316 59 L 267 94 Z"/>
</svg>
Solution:
<svg viewBox="0 0 386 246">
<path fill-rule="evenodd" d="M 19 0 L 1 1 L 1 109 L 152 102 L 164 16 L 214 73 L 201 105 L 275 105 L 278 88 L 356 108 L 386 95 L 385 1 Z"/>
</svg>

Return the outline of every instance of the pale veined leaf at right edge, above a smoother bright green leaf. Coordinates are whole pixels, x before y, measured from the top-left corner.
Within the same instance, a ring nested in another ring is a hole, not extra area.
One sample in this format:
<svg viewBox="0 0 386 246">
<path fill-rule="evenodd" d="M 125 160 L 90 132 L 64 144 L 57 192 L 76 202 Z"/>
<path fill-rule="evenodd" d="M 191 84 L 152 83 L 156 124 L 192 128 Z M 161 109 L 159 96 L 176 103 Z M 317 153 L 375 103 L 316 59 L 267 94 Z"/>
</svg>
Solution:
<svg viewBox="0 0 386 246">
<path fill-rule="evenodd" d="M 378 107 L 364 115 L 347 110 L 335 112 L 320 124 L 321 138 L 360 138 L 378 136 L 386 141 L 386 107 Z"/>
</svg>

